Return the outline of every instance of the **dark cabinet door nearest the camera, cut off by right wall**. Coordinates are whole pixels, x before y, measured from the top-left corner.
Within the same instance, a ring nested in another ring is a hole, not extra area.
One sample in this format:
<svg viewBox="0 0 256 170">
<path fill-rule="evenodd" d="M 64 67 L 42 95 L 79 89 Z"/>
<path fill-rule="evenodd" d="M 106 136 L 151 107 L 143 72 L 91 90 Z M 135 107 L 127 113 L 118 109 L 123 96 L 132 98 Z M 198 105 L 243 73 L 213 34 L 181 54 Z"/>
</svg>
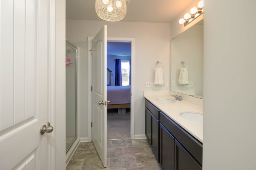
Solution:
<svg viewBox="0 0 256 170">
<path fill-rule="evenodd" d="M 200 166 L 192 156 L 180 145 L 175 139 L 175 170 L 202 170 Z"/>
</svg>

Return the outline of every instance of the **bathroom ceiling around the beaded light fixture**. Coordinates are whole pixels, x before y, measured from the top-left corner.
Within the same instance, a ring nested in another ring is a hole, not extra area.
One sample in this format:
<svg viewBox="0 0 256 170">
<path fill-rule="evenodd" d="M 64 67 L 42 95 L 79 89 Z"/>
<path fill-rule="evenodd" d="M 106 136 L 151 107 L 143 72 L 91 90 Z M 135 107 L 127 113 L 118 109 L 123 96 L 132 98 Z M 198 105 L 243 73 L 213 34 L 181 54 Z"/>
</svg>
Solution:
<svg viewBox="0 0 256 170">
<path fill-rule="evenodd" d="M 122 21 L 171 23 L 192 1 L 130 0 Z M 94 4 L 95 0 L 66 0 L 66 19 L 102 21 L 96 15 Z"/>
</svg>

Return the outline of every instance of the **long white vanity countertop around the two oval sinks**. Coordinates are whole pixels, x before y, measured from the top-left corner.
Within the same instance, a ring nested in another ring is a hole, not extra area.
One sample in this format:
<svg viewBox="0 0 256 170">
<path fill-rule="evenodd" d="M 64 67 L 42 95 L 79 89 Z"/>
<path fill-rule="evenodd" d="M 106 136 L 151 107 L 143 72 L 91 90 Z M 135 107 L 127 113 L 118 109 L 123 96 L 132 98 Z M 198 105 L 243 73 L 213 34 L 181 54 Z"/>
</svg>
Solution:
<svg viewBox="0 0 256 170">
<path fill-rule="evenodd" d="M 156 99 L 171 99 L 175 100 L 174 97 L 170 95 L 163 96 L 151 96 L 144 95 L 144 97 L 149 100 L 152 104 L 154 104 L 158 109 L 160 109 L 163 113 L 168 115 L 172 120 L 174 120 L 178 125 L 183 127 L 188 133 L 193 135 L 196 139 L 203 143 L 203 125 L 194 123 L 192 121 L 186 120 L 180 117 L 181 112 L 198 112 L 203 114 L 203 107 L 197 106 L 195 104 L 191 104 L 184 100 L 177 101 L 176 103 L 163 103 L 159 102 Z"/>
</svg>

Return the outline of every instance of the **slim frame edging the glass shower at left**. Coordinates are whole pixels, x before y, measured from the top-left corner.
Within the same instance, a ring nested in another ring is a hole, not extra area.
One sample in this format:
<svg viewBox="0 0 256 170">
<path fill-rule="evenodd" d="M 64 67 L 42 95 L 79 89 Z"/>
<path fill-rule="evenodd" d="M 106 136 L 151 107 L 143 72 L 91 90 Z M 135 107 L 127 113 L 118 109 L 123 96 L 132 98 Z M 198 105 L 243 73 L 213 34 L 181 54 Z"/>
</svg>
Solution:
<svg viewBox="0 0 256 170">
<path fill-rule="evenodd" d="M 72 44 L 70 41 L 66 40 L 66 45 L 76 50 L 76 78 L 75 78 L 75 86 L 76 86 L 76 137 L 66 150 L 66 164 L 68 164 L 71 156 L 74 154 L 75 149 L 80 143 L 80 79 L 79 79 L 79 58 L 80 58 L 80 48 L 76 47 L 76 45 Z"/>
</svg>

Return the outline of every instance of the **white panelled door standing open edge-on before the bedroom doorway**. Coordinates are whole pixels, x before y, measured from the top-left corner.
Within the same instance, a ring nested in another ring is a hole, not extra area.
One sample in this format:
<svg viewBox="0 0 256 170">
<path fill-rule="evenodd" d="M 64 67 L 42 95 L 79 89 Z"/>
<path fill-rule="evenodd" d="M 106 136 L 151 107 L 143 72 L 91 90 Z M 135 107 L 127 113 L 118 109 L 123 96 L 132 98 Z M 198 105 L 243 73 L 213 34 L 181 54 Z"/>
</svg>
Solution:
<svg viewBox="0 0 256 170">
<path fill-rule="evenodd" d="M 92 39 L 92 142 L 107 166 L 107 26 Z"/>
</svg>

